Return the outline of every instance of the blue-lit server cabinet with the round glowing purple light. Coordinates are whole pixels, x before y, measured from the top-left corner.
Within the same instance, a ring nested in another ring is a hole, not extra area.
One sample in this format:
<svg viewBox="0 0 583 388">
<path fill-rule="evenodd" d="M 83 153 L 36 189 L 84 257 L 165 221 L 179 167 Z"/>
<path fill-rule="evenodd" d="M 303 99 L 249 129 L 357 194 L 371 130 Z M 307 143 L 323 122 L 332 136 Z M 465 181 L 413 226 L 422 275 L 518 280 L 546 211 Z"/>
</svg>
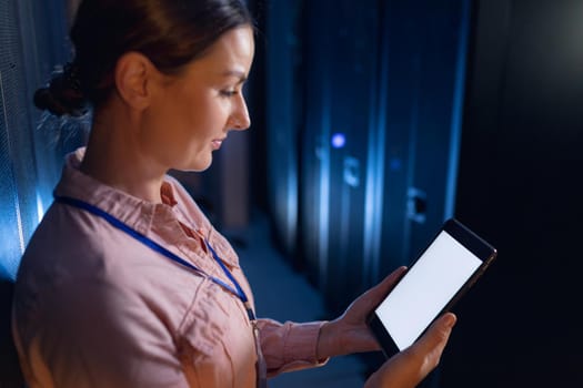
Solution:
<svg viewBox="0 0 583 388">
<path fill-rule="evenodd" d="M 306 10 L 305 125 L 302 127 L 305 258 L 340 313 L 366 288 L 364 208 L 369 132 L 374 126 L 376 1 L 322 1 Z"/>
</svg>

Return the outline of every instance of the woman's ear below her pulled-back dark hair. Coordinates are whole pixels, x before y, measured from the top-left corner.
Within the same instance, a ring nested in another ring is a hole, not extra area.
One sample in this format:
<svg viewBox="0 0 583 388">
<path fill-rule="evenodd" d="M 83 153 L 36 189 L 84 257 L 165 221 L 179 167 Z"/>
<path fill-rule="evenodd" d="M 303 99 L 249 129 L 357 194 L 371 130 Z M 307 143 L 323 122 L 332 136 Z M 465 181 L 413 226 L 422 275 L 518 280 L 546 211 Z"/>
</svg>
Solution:
<svg viewBox="0 0 583 388">
<path fill-rule="evenodd" d="M 123 54 L 115 64 L 115 86 L 120 98 L 137 110 L 148 108 L 160 73 L 153 63 L 139 52 Z"/>
</svg>

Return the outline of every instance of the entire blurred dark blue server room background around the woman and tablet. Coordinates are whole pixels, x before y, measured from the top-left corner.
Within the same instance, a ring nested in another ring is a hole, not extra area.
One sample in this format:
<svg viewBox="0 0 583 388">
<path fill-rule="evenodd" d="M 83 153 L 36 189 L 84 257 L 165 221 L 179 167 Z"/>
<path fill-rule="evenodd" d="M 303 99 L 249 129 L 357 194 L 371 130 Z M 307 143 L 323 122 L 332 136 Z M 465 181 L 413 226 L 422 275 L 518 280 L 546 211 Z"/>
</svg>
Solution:
<svg viewBox="0 0 583 388">
<path fill-rule="evenodd" d="M 34 90 L 77 1 L 0 0 L 0 387 L 20 256 L 81 132 Z M 240 252 L 258 308 L 333 318 L 455 216 L 499 258 L 423 387 L 583 387 L 583 1 L 255 0 L 252 126 L 178 176 Z M 379 354 L 273 387 L 359 387 Z M 293 376 L 293 377 L 292 377 Z"/>
</svg>

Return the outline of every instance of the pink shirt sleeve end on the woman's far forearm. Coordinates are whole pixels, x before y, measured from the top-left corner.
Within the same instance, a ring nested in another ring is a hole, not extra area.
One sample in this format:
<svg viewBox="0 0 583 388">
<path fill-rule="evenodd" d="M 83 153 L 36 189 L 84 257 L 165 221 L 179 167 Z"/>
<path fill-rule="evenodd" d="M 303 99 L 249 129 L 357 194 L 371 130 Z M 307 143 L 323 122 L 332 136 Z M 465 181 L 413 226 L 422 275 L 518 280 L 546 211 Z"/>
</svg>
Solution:
<svg viewBox="0 0 583 388">
<path fill-rule="evenodd" d="M 268 377 L 284 371 L 323 366 L 328 358 L 316 359 L 318 337 L 324 321 L 281 324 L 259 319 L 261 350 L 268 365 Z"/>
</svg>

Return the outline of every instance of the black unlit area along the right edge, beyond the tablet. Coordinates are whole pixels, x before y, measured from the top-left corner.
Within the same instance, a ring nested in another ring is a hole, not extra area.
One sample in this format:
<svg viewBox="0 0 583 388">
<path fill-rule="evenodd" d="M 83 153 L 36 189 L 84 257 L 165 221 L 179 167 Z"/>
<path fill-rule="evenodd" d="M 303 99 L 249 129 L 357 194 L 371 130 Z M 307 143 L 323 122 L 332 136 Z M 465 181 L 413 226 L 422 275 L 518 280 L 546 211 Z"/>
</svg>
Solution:
<svg viewBox="0 0 583 388">
<path fill-rule="evenodd" d="M 581 1 L 482 1 L 456 214 L 497 263 L 460 306 L 445 387 L 581 387 Z"/>
</svg>

